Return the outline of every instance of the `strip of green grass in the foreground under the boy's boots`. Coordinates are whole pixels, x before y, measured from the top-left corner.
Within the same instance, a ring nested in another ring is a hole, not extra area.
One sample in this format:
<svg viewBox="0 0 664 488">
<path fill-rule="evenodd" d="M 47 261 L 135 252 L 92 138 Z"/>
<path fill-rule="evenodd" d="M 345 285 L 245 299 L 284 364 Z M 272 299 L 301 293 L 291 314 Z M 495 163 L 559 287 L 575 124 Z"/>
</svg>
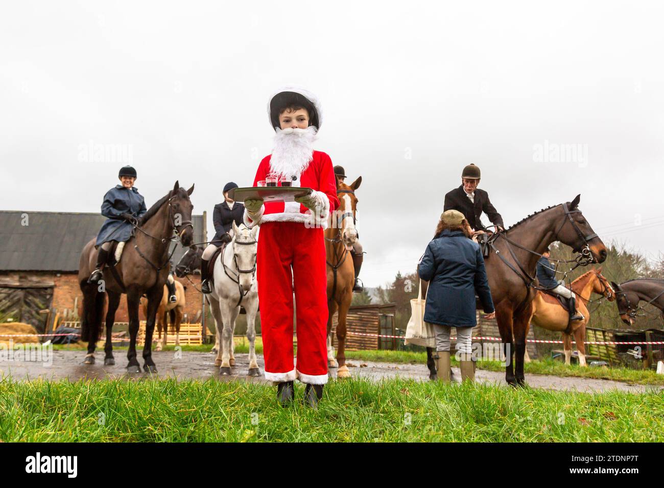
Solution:
<svg viewBox="0 0 664 488">
<path fill-rule="evenodd" d="M 276 388 L 216 380 L 0 382 L 5 442 L 653 442 L 657 393 L 344 380 L 318 410 Z M 303 387 L 297 384 L 297 399 Z M 254 420 L 254 423 L 252 423 Z"/>
</svg>

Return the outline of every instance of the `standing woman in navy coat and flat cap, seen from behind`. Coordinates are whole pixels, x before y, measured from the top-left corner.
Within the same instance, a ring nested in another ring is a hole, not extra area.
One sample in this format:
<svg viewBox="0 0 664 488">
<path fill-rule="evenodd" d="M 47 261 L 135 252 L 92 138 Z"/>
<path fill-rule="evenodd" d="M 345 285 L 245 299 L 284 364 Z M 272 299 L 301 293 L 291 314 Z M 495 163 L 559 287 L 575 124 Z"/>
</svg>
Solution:
<svg viewBox="0 0 664 488">
<path fill-rule="evenodd" d="M 484 311 L 493 312 L 484 258 L 479 244 L 470 239 L 468 228 L 461 212 L 444 212 L 418 267 L 420 278 L 429 282 L 424 321 L 436 331 L 436 369 L 441 381 L 450 381 L 452 327 L 456 327 L 457 351 L 461 353 L 461 379 L 475 379 L 471 334 L 477 325 L 476 293 Z"/>
</svg>

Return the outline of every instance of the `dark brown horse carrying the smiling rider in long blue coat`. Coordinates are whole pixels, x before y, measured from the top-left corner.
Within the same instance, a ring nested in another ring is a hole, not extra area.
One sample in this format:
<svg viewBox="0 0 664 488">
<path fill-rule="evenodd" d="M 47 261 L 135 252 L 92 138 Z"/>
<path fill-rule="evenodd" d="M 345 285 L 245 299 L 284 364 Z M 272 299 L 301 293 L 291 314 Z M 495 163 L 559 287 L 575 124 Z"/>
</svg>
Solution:
<svg viewBox="0 0 664 488">
<path fill-rule="evenodd" d="M 102 333 L 102 315 L 106 295 L 108 295 L 108 311 L 106 312 L 104 365 L 115 364 L 111 333 L 116 310 L 120 305 L 120 297 L 126 293 L 127 311 L 129 312 L 127 372 L 140 371 L 136 359 L 138 311 L 141 296 L 147 295 L 143 370 L 151 373 L 157 372 L 157 366 L 152 360 L 152 335 L 157 307 L 161 302 L 169 271 L 169 245 L 174 232 L 177 232 L 177 236 L 184 246 L 188 246 L 193 241 L 194 226 L 191 222 L 193 204 L 189 199 L 193 191 L 193 185 L 189 190 L 185 190 L 176 181 L 173 190 L 153 204 L 134 224 L 133 236 L 124 246 L 120 262 L 116 266 L 104 266 L 104 277 L 98 284 L 88 283 L 88 278 L 94 270 L 97 260 L 95 240 L 90 240 L 84 246 L 78 268 L 78 284 L 83 292 L 81 340 L 88 342 L 88 354 L 84 364 L 94 364 L 94 351 L 100 333 Z"/>
</svg>

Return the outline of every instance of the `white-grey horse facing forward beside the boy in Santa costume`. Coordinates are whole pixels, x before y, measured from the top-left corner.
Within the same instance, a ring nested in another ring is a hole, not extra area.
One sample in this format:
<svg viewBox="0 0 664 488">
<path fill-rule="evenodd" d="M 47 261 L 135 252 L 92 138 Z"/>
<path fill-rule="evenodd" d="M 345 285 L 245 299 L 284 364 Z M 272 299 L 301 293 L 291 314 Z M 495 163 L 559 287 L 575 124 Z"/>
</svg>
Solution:
<svg viewBox="0 0 664 488">
<path fill-rule="evenodd" d="M 214 263 L 214 289 L 206 297 L 212 309 L 216 325 L 218 351 L 215 366 L 220 374 L 231 374 L 235 365 L 233 334 L 240 305 L 247 315 L 247 339 L 249 341 L 249 376 L 260 376 L 256 362 L 256 312 L 258 311 L 258 287 L 256 284 L 256 251 L 258 228 L 238 227 L 233 222 L 232 240 Z"/>
</svg>

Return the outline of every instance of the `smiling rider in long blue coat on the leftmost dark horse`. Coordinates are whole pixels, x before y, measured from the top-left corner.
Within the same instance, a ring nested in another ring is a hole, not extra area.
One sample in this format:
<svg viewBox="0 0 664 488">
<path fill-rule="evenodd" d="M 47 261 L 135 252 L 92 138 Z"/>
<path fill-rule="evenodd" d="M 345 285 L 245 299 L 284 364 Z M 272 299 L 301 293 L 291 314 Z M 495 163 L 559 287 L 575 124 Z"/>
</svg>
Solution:
<svg viewBox="0 0 664 488">
<path fill-rule="evenodd" d="M 95 270 L 90 275 L 88 282 L 98 282 L 102 279 L 102 268 L 108 263 L 109 252 L 113 242 L 126 242 L 131 238 L 133 222 L 136 222 L 145 212 L 145 199 L 133 186 L 136 181 L 136 170 L 131 166 L 120 169 L 121 185 L 116 185 L 104 195 L 102 203 L 102 215 L 108 220 L 102 224 L 97 236 L 95 247 L 99 248 Z"/>
</svg>

